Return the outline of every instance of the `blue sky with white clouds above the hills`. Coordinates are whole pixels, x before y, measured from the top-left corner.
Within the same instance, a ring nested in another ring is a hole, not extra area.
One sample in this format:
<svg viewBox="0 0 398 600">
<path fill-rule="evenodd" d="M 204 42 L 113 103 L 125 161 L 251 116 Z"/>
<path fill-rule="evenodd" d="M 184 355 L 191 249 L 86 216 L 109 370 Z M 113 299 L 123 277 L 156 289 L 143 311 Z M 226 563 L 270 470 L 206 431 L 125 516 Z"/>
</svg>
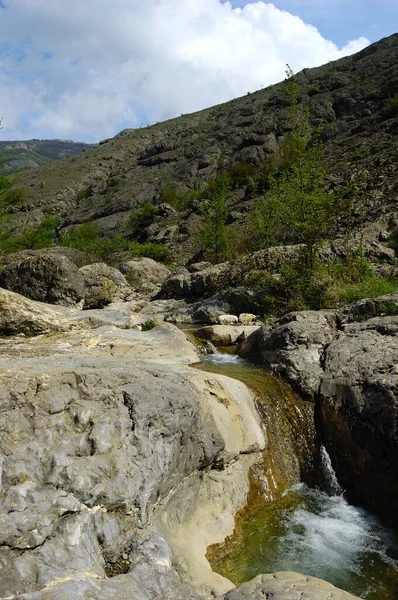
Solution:
<svg viewBox="0 0 398 600">
<path fill-rule="evenodd" d="M 0 139 L 98 141 L 398 30 L 398 0 L 0 0 Z"/>
</svg>

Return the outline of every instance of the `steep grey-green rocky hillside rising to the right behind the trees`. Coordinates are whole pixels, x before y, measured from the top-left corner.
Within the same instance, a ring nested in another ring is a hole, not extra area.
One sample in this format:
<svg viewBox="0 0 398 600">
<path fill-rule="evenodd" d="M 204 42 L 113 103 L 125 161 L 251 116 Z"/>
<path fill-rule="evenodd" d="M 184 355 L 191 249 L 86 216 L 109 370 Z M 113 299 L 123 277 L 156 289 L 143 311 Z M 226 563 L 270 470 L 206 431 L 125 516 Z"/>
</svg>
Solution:
<svg viewBox="0 0 398 600">
<path fill-rule="evenodd" d="M 368 174 L 370 222 L 395 214 L 398 197 L 398 34 L 360 53 L 297 75 L 301 102 L 311 121 L 322 123 L 330 186 L 352 173 Z M 262 168 L 289 131 L 286 82 L 226 104 L 127 129 L 96 148 L 26 171 L 18 181 L 27 200 L 12 208 L 11 224 L 32 226 L 59 218 L 58 232 L 91 221 L 105 236 L 128 229 L 131 211 L 164 204 L 203 187 L 233 164 Z M 247 168 L 247 167 L 245 167 Z M 170 204 L 170 202 L 169 202 Z M 229 223 L 247 219 L 245 185 L 230 200 Z M 198 203 L 184 210 L 159 209 L 141 239 L 165 243 L 178 263 L 190 260 Z"/>
</svg>

